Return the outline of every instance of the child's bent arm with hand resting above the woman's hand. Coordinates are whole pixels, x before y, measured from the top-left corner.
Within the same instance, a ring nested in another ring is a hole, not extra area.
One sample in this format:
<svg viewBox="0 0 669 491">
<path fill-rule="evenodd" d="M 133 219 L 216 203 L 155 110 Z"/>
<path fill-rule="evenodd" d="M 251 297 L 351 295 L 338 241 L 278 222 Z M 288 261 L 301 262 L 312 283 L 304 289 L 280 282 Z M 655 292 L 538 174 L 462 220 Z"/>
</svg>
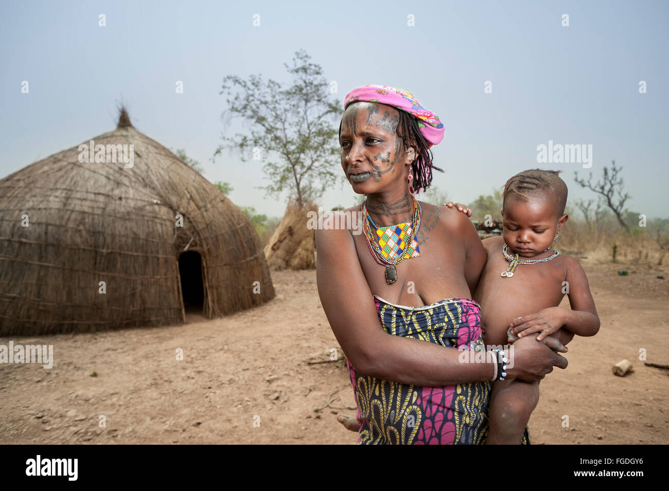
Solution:
<svg viewBox="0 0 669 491">
<path fill-rule="evenodd" d="M 531 315 L 513 319 L 510 333 L 524 337 L 541 333 L 537 341 L 557 332 L 561 327 L 579 336 L 594 336 L 599 331 L 599 317 L 587 283 L 585 271 L 573 257 L 567 260 L 567 296 L 571 309 L 549 307 Z"/>
</svg>

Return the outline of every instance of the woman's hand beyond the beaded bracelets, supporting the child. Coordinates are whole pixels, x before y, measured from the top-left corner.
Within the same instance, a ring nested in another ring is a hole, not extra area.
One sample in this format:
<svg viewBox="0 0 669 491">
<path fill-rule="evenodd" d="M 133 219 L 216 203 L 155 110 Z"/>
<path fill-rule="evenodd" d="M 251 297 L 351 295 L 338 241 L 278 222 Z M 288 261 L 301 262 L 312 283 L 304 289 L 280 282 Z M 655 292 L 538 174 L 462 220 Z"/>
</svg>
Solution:
<svg viewBox="0 0 669 491">
<path fill-rule="evenodd" d="M 549 339 L 555 339 L 549 337 Z M 557 340 L 556 340 L 557 341 Z M 521 337 L 513 343 L 512 365 L 506 368 L 507 379 L 519 379 L 524 382 L 535 382 L 543 379 L 553 367 L 567 368 L 567 359 L 558 355 L 532 337 Z"/>
</svg>

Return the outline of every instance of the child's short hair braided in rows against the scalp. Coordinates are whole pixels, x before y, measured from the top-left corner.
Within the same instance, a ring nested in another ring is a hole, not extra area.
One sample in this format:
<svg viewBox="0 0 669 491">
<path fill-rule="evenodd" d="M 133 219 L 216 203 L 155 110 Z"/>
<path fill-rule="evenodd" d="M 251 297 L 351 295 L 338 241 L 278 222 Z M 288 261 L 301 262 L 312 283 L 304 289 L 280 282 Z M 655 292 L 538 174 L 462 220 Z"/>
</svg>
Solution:
<svg viewBox="0 0 669 491">
<path fill-rule="evenodd" d="M 557 175 L 561 170 L 530 169 L 519 172 L 504 184 L 503 202 L 510 194 L 516 194 L 526 200 L 552 200 L 557 216 L 565 212 L 567 205 L 567 184 Z"/>
</svg>

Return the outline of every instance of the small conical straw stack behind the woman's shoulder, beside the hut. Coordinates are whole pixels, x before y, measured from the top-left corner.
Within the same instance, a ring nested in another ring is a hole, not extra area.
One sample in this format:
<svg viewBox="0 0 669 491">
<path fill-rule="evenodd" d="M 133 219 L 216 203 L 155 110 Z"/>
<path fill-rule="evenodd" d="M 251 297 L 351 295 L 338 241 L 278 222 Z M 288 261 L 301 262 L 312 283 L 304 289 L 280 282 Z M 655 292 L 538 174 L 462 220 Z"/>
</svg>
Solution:
<svg viewBox="0 0 669 491">
<path fill-rule="evenodd" d="M 307 227 L 307 213 L 318 206 L 308 202 L 302 206 L 288 203 L 286 214 L 274 229 L 265 246 L 270 269 L 312 269 L 316 267 L 314 230 Z"/>
</svg>

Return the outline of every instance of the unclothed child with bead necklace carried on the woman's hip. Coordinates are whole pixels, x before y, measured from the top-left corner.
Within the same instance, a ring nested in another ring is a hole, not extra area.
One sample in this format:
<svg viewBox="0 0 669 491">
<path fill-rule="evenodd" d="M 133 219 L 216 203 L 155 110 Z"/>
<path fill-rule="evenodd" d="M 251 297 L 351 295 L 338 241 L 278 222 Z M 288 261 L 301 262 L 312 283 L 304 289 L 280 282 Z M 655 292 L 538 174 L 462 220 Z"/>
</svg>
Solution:
<svg viewBox="0 0 669 491">
<path fill-rule="evenodd" d="M 504 185 L 502 236 L 483 240 L 488 261 L 476 300 L 486 345 L 512 343 L 518 337 L 557 337 L 599 330 L 585 272 L 573 257 L 559 255 L 551 244 L 567 222 L 567 185 L 560 171 L 526 170 Z M 564 295 L 571 309 L 558 307 Z M 488 410 L 486 444 L 520 444 L 539 401 L 539 382 L 496 381 Z"/>
</svg>

